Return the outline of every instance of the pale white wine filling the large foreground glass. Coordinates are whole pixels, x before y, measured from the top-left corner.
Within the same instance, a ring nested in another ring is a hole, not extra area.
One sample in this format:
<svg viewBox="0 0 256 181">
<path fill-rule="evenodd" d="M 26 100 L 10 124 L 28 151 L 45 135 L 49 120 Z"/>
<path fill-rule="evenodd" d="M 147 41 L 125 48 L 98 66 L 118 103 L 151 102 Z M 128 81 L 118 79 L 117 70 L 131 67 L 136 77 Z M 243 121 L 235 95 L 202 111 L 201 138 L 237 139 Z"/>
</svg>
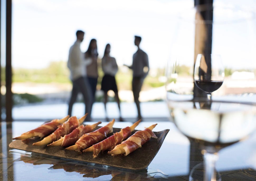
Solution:
<svg viewBox="0 0 256 181">
<path fill-rule="evenodd" d="M 255 105 L 168 101 L 168 106 L 177 128 L 205 145 L 229 145 L 245 138 L 256 128 Z"/>
</svg>

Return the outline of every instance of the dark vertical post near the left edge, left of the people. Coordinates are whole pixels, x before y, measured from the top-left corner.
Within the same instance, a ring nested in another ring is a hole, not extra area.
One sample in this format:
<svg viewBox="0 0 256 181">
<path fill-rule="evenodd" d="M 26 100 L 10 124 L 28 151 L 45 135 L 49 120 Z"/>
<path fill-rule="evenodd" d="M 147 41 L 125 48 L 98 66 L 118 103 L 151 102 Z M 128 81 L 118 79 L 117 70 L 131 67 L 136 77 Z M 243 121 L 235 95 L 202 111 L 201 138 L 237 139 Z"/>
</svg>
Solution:
<svg viewBox="0 0 256 181">
<path fill-rule="evenodd" d="M 12 0 L 6 0 L 6 121 L 12 121 Z"/>
</svg>

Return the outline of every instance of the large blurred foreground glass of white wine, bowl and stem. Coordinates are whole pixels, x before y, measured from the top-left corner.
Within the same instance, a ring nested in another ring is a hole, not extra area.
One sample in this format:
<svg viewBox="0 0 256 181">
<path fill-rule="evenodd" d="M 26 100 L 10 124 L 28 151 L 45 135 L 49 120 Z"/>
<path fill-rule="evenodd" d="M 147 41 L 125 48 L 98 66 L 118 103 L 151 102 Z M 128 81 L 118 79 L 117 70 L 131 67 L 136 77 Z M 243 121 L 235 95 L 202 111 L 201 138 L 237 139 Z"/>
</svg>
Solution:
<svg viewBox="0 0 256 181">
<path fill-rule="evenodd" d="M 215 2 L 177 20 L 166 66 L 170 119 L 199 144 L 203 180 L 216 180 L 218 151 L 256 128 L 255 14 Z"/>
</svg>

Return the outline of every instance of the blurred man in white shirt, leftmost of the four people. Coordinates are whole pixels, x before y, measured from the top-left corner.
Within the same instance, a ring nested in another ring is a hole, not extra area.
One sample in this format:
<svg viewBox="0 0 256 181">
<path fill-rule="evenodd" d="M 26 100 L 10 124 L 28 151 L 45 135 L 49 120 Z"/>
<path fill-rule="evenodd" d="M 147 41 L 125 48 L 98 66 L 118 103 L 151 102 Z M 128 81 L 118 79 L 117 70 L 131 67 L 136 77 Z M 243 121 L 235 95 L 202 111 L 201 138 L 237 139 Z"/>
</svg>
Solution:
<svg viewBox="0 0 256 181">
<path fill-rule="evenodd" d="M 89 87 L 89 82 L 87 80 L 86 65 L 90 64 L 92 61 L 84 60 L 83 53 L 80 50 L 80 44 L 84 39 L 84 32 L 78 30 L 76 32 L 76 36 L 77 40 L 75 41 L 74 45 L 70 47 L 68 56 L 70 79 L 73 83 L 68 107 L 68 114 L 71 116 L 73 104 L 77 99 L 78 93 L 81 92 L 85 104 L 85 113 L 88 113 L 86 121 L 91 121 L 92 93 Z"/>
</svg>

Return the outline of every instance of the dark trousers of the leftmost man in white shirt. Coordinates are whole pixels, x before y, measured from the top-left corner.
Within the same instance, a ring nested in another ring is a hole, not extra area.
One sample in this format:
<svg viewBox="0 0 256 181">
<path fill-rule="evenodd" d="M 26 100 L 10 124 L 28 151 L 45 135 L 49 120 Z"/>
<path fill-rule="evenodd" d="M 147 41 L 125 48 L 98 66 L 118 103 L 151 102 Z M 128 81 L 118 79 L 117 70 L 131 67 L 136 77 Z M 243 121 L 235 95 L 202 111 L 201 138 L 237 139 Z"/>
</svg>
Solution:
<svg viewBox="0 0 256 181">
<path fill-rule="evenodd" d="M 73 82 L 73 89 L 68 105 L 68 114 L 71 116 L 72 114 L 72 107 L 77 99 L 77 95 L 79 92 L 82 93 L 84 104 L 85 104 L 85 113 L 88 113 L 88 116 L 86 118 L 86 121 L 91 120 L 91 111 L 92 111 L 92 93 L 90 89 L 89 82 L 87 80 L 87 77 L 79 77 L 78 79 L 75 79 Z"/>
</svg>

